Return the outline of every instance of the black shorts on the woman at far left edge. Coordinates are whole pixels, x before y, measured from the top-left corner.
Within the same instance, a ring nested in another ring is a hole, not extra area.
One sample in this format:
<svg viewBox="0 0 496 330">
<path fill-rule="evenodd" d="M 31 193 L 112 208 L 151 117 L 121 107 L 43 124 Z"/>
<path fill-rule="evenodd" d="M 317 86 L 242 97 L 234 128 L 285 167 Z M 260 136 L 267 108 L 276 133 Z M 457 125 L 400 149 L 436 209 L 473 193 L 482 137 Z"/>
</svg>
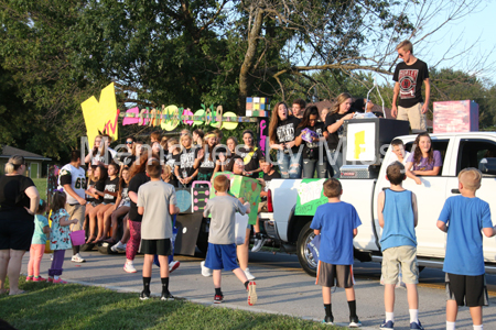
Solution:
<svg viewBox="0 0 496 330">
<path fill-rule="evenodd" d="M 0 250 L 25 250 L 31 248 L 34 221 L 0 220 Z"/>
</svg>

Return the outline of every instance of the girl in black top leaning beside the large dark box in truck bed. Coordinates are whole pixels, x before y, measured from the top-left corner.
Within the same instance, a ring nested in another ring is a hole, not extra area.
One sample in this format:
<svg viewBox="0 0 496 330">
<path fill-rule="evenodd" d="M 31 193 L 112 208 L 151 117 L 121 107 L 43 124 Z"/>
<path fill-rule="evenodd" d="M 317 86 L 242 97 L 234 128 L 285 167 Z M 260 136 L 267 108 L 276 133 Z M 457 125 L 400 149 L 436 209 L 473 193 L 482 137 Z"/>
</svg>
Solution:
<svg viewBox="0 0 496 330">
<path fill-rule="evenodd" d="M 334 169 L 334 176 L 339 177 L 339 168 L 343 165 L 343 131 L 344 121 L 353 118 L 354 112 L 352 108 L 352 96 L 347 92 L 342 92 L 337 96 L 336 102 L 332 111 L 325 118 L 325 125 L 327 127 L 327 160 Z"/>
</svg>

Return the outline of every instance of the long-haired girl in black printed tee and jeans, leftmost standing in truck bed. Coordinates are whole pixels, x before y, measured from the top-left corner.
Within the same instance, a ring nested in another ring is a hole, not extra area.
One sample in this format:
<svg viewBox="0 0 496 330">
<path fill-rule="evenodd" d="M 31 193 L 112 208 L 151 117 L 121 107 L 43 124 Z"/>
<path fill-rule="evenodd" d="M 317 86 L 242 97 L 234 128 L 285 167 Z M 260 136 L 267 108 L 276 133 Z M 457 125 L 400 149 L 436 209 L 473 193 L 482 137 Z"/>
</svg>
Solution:
<svg viewBox="0 0 496 330">
<path fill-rule="evenodd" d="M 276 105 L 269 123 L 270 147 L 278 151 L 278 165 L 283 178 L 301 178 L 300 148 L 295 131 L 300 119 L 288 114 L 284 102 Z"/>
</svg>

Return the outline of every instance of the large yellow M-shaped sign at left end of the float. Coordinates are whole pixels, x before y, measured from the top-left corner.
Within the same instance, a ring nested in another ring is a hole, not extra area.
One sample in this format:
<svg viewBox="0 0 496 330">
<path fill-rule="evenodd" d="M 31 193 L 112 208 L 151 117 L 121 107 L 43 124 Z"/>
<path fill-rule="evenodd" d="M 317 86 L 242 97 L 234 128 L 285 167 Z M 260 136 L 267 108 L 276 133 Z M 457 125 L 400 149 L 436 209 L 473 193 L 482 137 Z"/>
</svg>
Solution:
<svg viewBox="0 0 496 330">
<path fill-rule="evenodd" d="M 83 108 L 86 134 L 90 147 L 95 143 L 95 136 L 98 135 L 98 131 L 109 134 L 114 140 L 118 139 L 117 120 L 119 111 L 117 110 L 114 82 L 101 90 L 99 102 L 93 96 L 80 103 L 80 107 Z"/>
</svg>

